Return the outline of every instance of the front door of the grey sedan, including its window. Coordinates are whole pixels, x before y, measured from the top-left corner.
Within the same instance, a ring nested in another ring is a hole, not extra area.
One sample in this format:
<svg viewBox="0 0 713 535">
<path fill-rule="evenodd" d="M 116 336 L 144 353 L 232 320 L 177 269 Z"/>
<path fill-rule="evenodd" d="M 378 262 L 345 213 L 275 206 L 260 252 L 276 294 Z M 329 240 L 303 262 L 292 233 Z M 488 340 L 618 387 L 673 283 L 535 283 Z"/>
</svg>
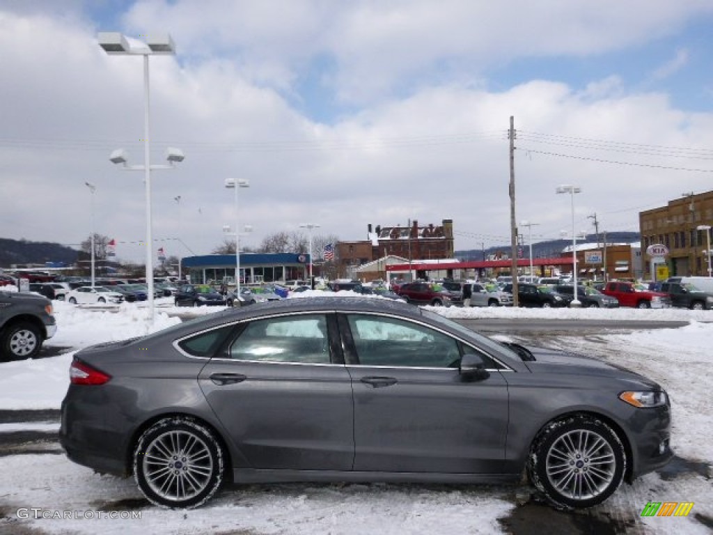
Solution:
<svg viewBox="0 0 713 535">
<path fill-rule="evenodd" d="M 354 389 L 354 470 L 499 473 L 508 389 L 498 371 L 461 378 L 451 335 L 384 315 L 341 315 Z"/>
</svg>

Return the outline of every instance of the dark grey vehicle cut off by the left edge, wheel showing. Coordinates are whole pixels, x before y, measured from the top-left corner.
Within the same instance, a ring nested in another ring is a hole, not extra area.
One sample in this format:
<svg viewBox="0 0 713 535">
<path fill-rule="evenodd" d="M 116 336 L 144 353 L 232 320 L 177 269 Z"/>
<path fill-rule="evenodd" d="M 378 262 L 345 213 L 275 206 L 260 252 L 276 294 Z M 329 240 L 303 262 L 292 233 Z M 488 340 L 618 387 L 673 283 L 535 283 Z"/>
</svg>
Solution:
<svg viewBox="0 0 713 535">
<path fill-rule="evenodd" d="M 0 361 L 36 356 L 57 330 L 52 312 L 46 297 L 0 290 Z"/>
</svg>

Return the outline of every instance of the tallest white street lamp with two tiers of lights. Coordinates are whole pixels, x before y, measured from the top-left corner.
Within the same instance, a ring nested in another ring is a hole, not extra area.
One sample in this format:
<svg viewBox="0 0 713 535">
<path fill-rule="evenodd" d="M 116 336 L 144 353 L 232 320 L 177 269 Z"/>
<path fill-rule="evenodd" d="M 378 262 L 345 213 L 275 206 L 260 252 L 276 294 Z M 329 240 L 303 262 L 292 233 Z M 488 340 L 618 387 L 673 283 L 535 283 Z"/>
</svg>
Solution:
<svg viewBox="0 0 713 535">
<path fill-rule="evenodd" d="M 173 167 L 176 162 L 183 161 L 183 153 L 175 148 L 169 148 L 167 153 L 169 165 L 150 164 L 150 100 L 148 91 L 148 56 L 175 54 L 173 39 L 168 34 L 152 34 L 147 36 L 145 46 L 132 46 L 126 36 L 118 31 L 100 32 L 98 34 L 99 46 L 110 55 L 143 56 L 143 94 L 144 94 L 144 152 L 143 165 L 127 165 L 128 157 L 123 149 L 111 153 L 110 160 L 121 164 L 125 169 L 143 170 L 146 190 L 146 284 L 148 285 L 148 307 L 150 310 L 149 322 L 153 323 L 153 237 L 151 235 L 151 171 Z"/>
</svg>

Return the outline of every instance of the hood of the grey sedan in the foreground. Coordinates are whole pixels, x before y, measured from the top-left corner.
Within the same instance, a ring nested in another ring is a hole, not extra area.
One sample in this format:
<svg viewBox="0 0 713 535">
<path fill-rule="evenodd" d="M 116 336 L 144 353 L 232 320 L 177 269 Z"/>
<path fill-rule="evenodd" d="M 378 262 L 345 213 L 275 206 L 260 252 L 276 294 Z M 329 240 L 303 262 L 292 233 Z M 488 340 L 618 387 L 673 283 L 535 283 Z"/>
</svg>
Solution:
<svg viewBox="0 0 713 535">
<path fill-rule="evenodd" d="M 575 374 L 575 375 L 596 375 L 599 377 L 616 377 L 618 379 L 630 379 L 643 382 L 647 386 L 659 389 L 659 385 L 640 374 L 627 370 L 607 362 L 602 362 L 583 355 L 560 352 L 558 350 L 548 350 L 543 347 L 528 347 L 535 360 L 525 361 L 524 364 L 530 372 L 535 374 Z"/>
</svg>

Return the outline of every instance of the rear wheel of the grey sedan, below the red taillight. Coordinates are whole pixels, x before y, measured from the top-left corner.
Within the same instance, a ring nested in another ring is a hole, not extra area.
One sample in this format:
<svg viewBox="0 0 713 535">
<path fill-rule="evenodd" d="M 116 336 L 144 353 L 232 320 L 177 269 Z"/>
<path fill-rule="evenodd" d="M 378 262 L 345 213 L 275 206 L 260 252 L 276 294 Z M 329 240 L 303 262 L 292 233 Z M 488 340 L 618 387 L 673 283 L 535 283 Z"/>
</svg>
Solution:
<svg viewBox="0 0 713 535">
<path fill-rule="evenodd" d="M 164 418 L 136 442 L 134 479 L 153 504 L 191 509 L 220 488 L 223 457 L 220 442 L 205 425 L 186 417 Z"/>
</svg>

